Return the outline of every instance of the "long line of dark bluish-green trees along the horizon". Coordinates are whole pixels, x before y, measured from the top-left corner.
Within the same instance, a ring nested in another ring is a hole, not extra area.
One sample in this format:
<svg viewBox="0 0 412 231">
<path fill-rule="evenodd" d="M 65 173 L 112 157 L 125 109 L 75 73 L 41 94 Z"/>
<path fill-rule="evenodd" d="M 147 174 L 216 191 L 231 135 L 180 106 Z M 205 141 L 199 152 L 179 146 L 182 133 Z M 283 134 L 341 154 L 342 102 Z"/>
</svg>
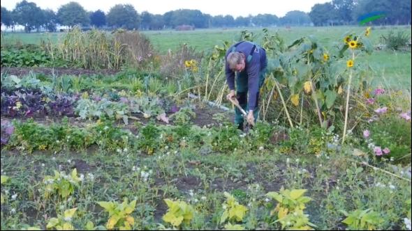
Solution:
<svg viewBox="0 0 412 231">
<path fill-rule="evenodd" d="M 21 1 L 13 10 L 1 7 L 1 25 L 13 28 L 24 26 L 24 31 L 56 31 L 61 26 L 95 26 L 108 29 L 161 30 L 189 25 L 198 29 L 238 26 L 333 26 L 359 22 L 362 16 L 380 12 L 380 17 L 369 24 L 411 24 L 411 0 L 332 0 L 315 4 L 309 13 L 292 10 L 284 17 L 271 14 L 236 17 L 212 16 L 200 10 L 171 10 L 163 15 L 147 11 L 138 13 L 131 4 L 117 4 L 106 14 L 102 10 L 89 12 L 77 2 L 62 5 L 57 12 Z"/>
</svg>

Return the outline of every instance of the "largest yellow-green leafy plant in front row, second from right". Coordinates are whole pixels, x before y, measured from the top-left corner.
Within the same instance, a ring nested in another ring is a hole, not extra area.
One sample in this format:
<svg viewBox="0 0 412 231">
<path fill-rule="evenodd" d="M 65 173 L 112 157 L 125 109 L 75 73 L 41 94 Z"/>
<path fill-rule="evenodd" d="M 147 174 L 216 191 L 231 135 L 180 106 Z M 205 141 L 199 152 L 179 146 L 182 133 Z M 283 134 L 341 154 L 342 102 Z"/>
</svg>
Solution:
<svg viewBox="0 0 412 231">
<path fill-rule="evenodd" d="M 306 189 L 284 189 L 282 186 L 279 193 L 269 192 L 267 197 L 277 200 L 278 204 L 271 212 L 271 216 L 277 214 L 277 221 L 281 223 L 282 229 L 288 230 L 312 230 L 316 227 L 309 222 L 309 218 L 303 213 L 305 204 L 311 200 L 303 196 Z"/>
</svg>

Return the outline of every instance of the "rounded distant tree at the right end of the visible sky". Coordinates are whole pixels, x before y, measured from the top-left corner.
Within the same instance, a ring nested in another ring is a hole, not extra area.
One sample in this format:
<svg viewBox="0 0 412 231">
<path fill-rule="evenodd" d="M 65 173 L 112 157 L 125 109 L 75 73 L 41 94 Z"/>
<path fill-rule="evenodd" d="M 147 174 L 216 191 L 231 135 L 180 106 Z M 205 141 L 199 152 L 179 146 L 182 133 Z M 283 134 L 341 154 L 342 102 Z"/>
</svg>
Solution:
<svg viewBox="0 0 412 231">
<path fill-rule="evenodd" d="M 309 17 L 315 26 L 325 26 L 335 19 L 335 10 L 331 3 L 315 4 L 311 8 Z"/>
</svg>

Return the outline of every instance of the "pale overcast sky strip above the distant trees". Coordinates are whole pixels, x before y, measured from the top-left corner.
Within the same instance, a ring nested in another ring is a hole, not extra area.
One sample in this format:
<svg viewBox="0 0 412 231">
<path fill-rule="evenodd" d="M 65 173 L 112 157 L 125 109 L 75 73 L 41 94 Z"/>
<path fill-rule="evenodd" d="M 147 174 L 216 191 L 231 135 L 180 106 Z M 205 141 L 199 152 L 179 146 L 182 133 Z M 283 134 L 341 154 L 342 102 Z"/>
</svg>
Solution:
<svg viewBox="0 0 412 231">
<path fill-rule="evenodd" d="M 22 0 L 2 0 L 1 6 L 13 10 L 16 3 Z M 61 5 L 71 0 L 27 0 L 36 3 L 42 9 L 50 8 L 57 11 Z M 72 0 L 73 1 L 73 0 Z M 309 13 L 315 3 L 325 3 L 331 0 L 98 0 L 77 1 L 85 10 L 103 10 L 108 13 L 115 4 L 131 3 L 138 13 L 148 11 L 152 14 L 161 14 L 178 9 L 200 10 L 212 16 L 233 15 L 248 16 L 258 14 L 272 14 L 283 17 L 290 10 L 301 10 Z"/>
</svg>

